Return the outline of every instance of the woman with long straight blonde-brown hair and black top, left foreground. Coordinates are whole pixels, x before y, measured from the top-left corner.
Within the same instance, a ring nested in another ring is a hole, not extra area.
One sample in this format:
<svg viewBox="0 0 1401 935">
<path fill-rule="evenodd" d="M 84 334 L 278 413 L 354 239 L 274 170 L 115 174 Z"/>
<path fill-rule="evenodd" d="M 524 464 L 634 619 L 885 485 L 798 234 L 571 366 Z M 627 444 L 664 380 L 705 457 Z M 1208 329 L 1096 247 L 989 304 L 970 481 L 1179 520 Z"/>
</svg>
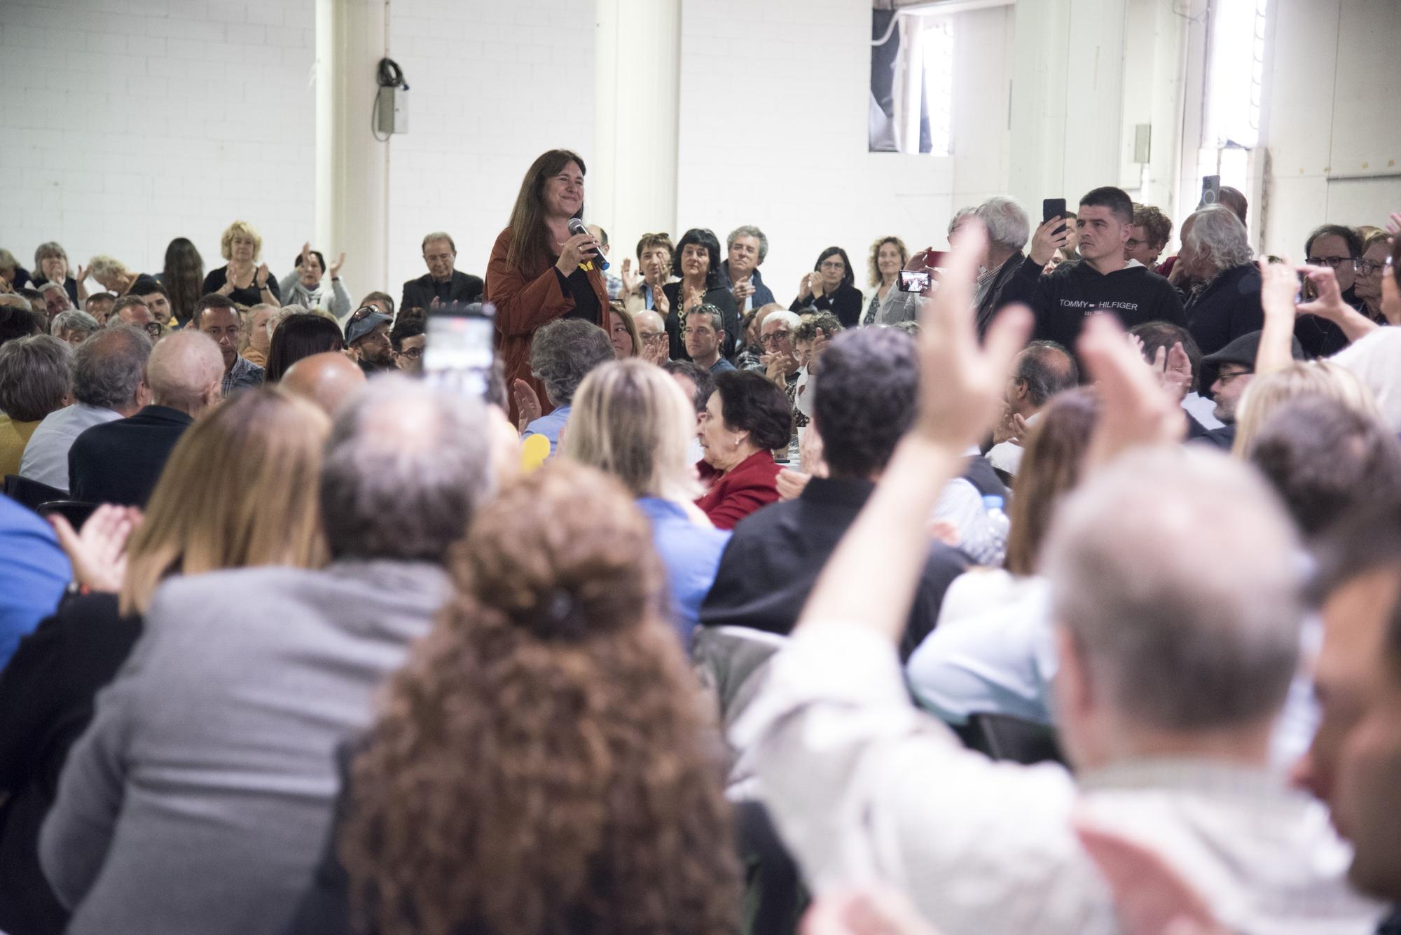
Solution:
<svg viewBox="0 0 1401 935">
<path fill-rule="evenodd" d="M 171 575 L 245 565 L 315 567 L 321 449 L 329 420 L 301 399 L 256 389 L 196 421 L 175 445 L 146 516 L 102 507 L 81 533 L 55 519 L 81 596 L 60 605 L 0 675 L 0 900 L 39 931 L 67 918 L 38 862 L 39 823 L 97 691 L 142 634 L 142 616 Z M 193 507 L 198 504 L 198 507 Z"/>
</svg>

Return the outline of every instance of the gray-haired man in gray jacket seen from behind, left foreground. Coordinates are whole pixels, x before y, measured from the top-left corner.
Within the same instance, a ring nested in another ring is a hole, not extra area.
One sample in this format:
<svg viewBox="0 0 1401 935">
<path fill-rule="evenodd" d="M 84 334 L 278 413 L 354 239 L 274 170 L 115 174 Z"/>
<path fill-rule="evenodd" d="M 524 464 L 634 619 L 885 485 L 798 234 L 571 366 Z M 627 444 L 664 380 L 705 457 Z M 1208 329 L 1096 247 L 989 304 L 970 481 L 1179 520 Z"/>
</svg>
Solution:
<svg viewBox="0 0 1401 935">
<path fill-rule="evenodd" d="M 381 377 L 326 441 L 328 567 L 157 591 L 41 833 L 69 932 L 287 927 L 331 827 L 335 749 L 453 592 L 443 561 L 489 493 L 489 435 L 482 403 Z"/>
</svg>

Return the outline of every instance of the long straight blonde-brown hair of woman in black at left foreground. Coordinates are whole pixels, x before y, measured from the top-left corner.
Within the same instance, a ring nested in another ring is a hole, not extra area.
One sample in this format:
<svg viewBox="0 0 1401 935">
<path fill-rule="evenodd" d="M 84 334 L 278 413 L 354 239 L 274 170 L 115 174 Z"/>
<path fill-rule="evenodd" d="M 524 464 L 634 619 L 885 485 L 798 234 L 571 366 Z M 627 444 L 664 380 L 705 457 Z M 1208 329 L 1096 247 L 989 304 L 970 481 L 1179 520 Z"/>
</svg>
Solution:
<svg viewBox="0 0 1401 935">
<path fill-rule="evenodd" d="M 185 430 L 132 533 L 120 612 L 146 613 L 171 574 L 325 561 L 317 490 L 329 431 L 319 409 L 272 388 Z"/>
</svg>

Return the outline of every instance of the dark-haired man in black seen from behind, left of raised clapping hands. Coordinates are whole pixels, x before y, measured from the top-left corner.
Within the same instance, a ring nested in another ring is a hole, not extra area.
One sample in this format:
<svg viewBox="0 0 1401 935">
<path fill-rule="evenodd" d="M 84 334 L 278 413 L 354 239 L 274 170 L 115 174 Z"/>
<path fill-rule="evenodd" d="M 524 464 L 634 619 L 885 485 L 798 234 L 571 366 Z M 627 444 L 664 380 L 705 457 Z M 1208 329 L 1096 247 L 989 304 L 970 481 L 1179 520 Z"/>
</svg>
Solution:
<svg viewBox="0 0 1401 935">
<path fill-rule="evenodd" d="M 813 477 L 796 500 L 740 521 L 700 605 L 702 626 L 792 631 L 818 572 L 913 420 L 919 360 L 915 343 L 899 330 L 838 335 L 813 379 L 813 423 L 822 434 L 829 476 Z M 965 565 L 954 549 L 930 546 L 901 642 L 904 656 L 933 628 L 944 591 Z"/>
</svg>

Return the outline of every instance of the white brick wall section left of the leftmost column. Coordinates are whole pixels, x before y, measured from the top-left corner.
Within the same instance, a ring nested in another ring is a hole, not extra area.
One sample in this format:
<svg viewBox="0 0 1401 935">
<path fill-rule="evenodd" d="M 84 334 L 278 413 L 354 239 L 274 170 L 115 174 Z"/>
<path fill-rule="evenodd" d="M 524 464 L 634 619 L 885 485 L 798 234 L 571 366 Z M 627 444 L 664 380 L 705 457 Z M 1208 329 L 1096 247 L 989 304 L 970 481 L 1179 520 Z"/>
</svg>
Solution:
<svg viewBox="0 0 1401 935">
<path fill-rule="evenodd" d="M 0 245 L 154 273 L 188 237 L 213 269 L 244 218 L 286 273 L 314 223 L 312 55 L 311 0 L 4 0 Z"/>
</svg>

